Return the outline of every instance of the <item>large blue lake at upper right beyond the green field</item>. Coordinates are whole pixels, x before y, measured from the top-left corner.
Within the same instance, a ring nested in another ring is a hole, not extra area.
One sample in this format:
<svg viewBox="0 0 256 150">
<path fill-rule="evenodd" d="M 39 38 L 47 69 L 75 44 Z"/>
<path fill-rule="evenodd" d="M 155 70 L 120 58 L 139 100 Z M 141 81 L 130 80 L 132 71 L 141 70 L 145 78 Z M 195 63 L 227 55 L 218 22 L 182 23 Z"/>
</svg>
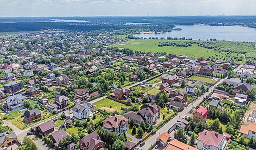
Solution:
<svg viewBox="0 0 256 150">
<path fill-rule="evenodd" d="M 209 26 L 209 25 L 176 25 L 175 28 L 182 30 L 173 30 L 165 33 L 141 33 L 134 36 L 139 37 L 185 37 L 194 40 L 207 40 L 216 38 L 217 40 L 229 41 L 254 41 L 256 42 L 256 28 L 245 26 Z"/>
</svg>

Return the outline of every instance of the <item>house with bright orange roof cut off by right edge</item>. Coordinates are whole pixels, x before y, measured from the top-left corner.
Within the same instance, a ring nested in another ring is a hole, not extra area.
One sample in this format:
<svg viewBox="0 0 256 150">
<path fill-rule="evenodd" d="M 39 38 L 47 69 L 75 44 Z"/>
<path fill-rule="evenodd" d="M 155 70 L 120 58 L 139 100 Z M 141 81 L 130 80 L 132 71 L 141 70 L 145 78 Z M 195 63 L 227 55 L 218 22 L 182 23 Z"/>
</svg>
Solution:
<svg viewBox="0 0 256 150">
<path fill-rule="evenodd" d="M 256 140 L 256 124 L 249 122 L 249 125 L 241 125 L 239 130 L 240 136 L 243 135 L 247 138 L 253 138 Z"/>
</svg>

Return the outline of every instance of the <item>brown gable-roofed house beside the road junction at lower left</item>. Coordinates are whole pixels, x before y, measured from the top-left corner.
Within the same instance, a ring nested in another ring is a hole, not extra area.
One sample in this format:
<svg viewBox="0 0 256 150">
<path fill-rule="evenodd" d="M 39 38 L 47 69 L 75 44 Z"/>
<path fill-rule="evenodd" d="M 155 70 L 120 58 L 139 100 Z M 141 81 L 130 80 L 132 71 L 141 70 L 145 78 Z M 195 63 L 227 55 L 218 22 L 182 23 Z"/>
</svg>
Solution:
<svg viewBox="0 0 256 150">
<path fill-rule="evenodd" d="M 32 127 L 31 130 L 34 132 L 38 132 L 43 134 L 44 136 L 48 135 L 49 133 L 54 131 L 55 125 L 52 123 L 51 120 L 47 122 L 43 122 L 35 127 Z"/>
</svg>

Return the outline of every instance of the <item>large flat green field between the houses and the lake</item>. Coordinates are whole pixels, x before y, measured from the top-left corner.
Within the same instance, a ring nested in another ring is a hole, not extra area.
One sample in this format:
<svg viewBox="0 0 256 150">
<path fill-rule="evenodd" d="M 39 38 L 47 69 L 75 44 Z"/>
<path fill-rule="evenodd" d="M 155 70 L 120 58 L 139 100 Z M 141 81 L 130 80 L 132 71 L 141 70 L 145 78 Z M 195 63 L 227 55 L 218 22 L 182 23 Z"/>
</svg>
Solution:
<svg viewBox="0 0 256 150">
<path fill-rule="evenodd" d="M 151 52 L 167 52 L 167 53 L 175 53 L 177 55 L 187 55 L 195 58 L 198 57 L 209 57 L 214 56 L 215 59 L 230 59 L 230 57 L 237 56 L 235 53 L 229 53 L 226 55 L 226 52 L 215 52 L 212 49 L 207 49 L 203 47 L 199 47 L 196 44 L 192 44 L 191 47 L 178 47 L 178 46 L 162 46 L 158 47 L 158 43 L 162 41 L 166 41 L 167 39 L 129 39 L 126 42 L 114 44 L 111 46 L 115 46 L 118 48 L 130 48 L 132 50 L 140 50 L 140 51 L 151 51 Z M 242 56 L 242 54 L 238 54 Z M 243 61 L 239 61 L 239 63 L 243 63 Z"/>
</svg>

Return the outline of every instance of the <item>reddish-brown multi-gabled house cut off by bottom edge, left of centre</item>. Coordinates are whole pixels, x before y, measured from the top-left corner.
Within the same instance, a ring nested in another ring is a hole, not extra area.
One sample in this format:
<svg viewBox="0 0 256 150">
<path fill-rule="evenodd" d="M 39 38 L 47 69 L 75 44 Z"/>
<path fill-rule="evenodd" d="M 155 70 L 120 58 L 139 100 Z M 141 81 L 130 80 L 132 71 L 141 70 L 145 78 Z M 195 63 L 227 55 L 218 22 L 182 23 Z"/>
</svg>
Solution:
<svg viewBox="0 0 256 150">
<path fill-rule="evenodd" d="M 97 132 L 93 131 L 79 140 L 80 150 L 104 149 L 104 142 L 100 139 Z"/>
</svg>

